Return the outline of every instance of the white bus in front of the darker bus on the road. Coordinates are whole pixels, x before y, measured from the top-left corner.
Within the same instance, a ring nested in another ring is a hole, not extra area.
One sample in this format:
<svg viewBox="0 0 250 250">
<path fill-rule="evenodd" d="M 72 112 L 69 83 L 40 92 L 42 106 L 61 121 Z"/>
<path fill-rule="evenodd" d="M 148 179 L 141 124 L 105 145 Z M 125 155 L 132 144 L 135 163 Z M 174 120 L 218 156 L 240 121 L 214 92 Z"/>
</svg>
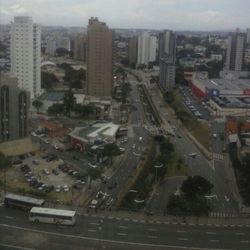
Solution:
<svg viewBox="0 0 250 250">
<path fill-rule="evenodd" d="M 72 210 L 33 207 L 29 213 L 29 220 L 32 222 L 74 225 L 76 222 L 76 212 Z"/>
</svg>

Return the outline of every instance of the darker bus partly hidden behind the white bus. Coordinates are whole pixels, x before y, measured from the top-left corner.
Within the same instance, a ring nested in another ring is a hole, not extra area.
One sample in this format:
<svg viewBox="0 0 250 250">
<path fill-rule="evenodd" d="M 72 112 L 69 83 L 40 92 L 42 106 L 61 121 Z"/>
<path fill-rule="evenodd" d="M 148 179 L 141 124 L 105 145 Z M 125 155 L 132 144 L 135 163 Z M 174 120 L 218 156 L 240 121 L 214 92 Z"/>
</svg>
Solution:
<svg viewBox="0 0 250 250">
<path fill-rule="evenodd" d="M 4 196 L 4 205 L 6 207 L 17 207 L 25 211 L 30 210 L 34 206 L 43 206 L 44 199 L 36 199 L 29 196 L 8 193 Z"/>
</svg>

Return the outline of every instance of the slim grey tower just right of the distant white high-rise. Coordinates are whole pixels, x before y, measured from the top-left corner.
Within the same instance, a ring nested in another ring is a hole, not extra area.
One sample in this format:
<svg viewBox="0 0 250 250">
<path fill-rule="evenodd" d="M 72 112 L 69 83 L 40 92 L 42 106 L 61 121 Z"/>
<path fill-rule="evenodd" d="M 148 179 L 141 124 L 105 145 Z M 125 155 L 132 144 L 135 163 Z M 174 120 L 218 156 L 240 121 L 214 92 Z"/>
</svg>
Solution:
<svg viewBox="0 0 250 250">
<path fill-rule="evenodd" d="M 159 84 L 163 90 L 170 90 L 175 84 L 176 38 L 170 30 L 159 34 Z"/>
</svg>

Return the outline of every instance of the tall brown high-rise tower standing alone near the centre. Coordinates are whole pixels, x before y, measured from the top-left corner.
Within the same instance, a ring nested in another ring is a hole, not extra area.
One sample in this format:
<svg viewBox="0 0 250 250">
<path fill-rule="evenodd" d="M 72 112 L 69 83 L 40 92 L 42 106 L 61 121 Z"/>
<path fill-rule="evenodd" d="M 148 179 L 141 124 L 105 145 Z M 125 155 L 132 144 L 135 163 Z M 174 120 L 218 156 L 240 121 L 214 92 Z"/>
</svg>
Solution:
<svg viewBox="0 0 250 250">
<path fill-rule="evenodd" d="M 87 29 L 87 94 L 111 96 L 113 85 L 112 31 L 91 18 Z"/>
</svg>

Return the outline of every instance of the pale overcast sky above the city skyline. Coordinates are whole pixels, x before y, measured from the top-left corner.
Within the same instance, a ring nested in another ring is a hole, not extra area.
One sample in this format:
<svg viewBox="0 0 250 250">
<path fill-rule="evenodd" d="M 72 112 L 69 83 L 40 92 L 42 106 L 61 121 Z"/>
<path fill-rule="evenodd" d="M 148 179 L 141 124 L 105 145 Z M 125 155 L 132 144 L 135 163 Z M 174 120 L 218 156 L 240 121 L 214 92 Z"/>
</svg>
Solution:
<svg viewBox="0 0 250 250">
<path fill-rule="evenodd" d="M 42 25 L 221 30 L 250 27 L 250 0 L 0 0 L 0 23 L 29 15 Z"/>
</svg>

